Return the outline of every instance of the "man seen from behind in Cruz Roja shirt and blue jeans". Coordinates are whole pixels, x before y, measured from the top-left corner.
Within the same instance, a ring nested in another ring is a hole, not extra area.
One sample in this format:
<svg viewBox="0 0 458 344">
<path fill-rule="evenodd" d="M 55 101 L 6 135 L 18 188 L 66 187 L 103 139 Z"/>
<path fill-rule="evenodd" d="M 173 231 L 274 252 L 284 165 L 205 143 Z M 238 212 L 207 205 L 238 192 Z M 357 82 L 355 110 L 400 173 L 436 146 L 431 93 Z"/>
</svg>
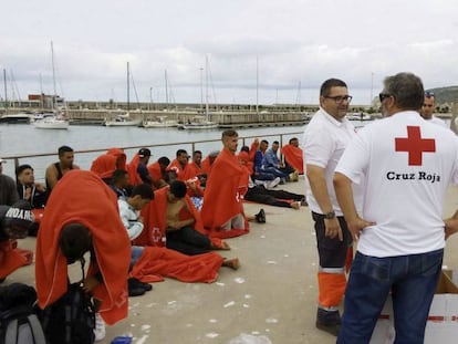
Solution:
<svg viewBox="0 0 458 344">
<path fill-rule="evenodd" d="M 348 229 L 360 239 L 337 343 L 368 343 L 392 292 L 396 343 L 420 344 L 443 263 L 444 199 L 449 183 L 458 183 L 458 140 L 418 115 L 418 76 L 386 77 L 379 98 L 387 117 L 358 132 L 334 175 Z M 367 186 L 362 212 L 352 184 Z"/>
</svg>

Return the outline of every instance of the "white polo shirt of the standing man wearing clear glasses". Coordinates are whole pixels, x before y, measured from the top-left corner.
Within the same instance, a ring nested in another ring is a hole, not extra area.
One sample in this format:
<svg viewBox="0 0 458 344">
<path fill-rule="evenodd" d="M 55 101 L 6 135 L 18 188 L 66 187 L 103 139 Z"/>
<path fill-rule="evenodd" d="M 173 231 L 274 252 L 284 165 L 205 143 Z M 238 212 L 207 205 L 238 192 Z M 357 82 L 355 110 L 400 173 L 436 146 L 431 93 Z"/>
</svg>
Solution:
<svg viewBox="0 0 458 344">
<path fill-rule="evenodd" d="M 345 147 L 355 135 L 355 128 L 350 121 L 343 118 L 342 122 L 339 122 L 323 108 L 320 108 L 305 127 L 303 136 L 304 171 L 306 171 L 306 165 L 324 168 L 327 192 L 337 216 L 342 216 L 342 210 L 337 204 L 334 191 L 334 169 L 335 166 L 337 166 L 339 159 Z M 355 186 L 353 189 L 357 207 L 361 206 L 362 202 L 361 190 L 358 190 L 358 186 Z M 323 213 L 323 210 L 320 208 L 312 194 L 308 178 L 305 178 L 305 191 L 310 210 Z M 361 207 L 358 207 L 358 209 L 360 208 Z"/>
</svg>

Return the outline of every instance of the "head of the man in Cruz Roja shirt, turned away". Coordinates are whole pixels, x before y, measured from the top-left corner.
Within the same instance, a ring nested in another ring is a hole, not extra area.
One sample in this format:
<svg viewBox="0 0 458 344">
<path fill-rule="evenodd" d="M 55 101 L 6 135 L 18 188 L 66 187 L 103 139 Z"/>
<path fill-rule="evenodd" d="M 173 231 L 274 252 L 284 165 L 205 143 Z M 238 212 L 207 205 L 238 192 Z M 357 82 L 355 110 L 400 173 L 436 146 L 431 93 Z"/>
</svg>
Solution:
<svg viewBox="0 0 458 344">
<path fill-rule="evenodd" d="M 379 94 L 382 114 L 392 116 L 402 111 L 419 111 L 425 100 L 421 80 L 413 73 L 398 73 L 384 80 Z"/>
</svg>

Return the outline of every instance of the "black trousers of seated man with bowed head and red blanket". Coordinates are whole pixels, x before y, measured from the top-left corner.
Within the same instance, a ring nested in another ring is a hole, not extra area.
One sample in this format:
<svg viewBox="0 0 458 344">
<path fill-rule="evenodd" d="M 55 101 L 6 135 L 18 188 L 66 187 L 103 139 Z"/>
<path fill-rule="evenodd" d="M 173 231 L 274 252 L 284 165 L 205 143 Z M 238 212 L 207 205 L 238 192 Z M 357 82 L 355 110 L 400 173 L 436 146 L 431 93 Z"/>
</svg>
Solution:
<svg viewBox="0 0 458 344">
<path fill-rule="evenodd" d="M 192 227 L 183 227 L 178 230 L 166 231 L 166 247 L 188 256 L 195 256 L 209 252 L 211 241 Z"/>
</svg>

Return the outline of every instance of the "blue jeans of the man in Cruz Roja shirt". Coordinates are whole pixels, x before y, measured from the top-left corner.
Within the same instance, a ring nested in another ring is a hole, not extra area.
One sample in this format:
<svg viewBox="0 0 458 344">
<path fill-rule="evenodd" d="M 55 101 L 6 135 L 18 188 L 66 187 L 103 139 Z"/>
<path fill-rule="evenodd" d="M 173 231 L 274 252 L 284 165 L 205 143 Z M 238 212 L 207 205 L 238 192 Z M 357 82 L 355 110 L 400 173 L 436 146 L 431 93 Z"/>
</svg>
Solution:
<svg viewBox="0 0 458 344">
<path fill-rule="evenodd" d="M 337 343 L 368 343 L 391 291 L 396 331 L 394 343 L 421 344 L 443 257 L 443 249 L 387 258 L 356 252 L 346 285 Z"/>
</svg>

